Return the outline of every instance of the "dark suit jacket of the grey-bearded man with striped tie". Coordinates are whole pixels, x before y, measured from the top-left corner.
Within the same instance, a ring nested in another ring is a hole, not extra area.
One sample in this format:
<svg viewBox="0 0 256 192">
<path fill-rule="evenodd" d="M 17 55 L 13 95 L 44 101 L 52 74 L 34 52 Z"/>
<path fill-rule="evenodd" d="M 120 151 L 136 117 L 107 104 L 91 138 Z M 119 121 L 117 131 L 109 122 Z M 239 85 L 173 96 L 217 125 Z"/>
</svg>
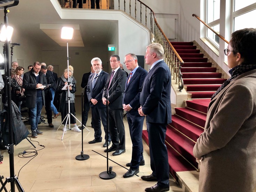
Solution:
<svg viewBox="0 0 256 192">
<path fill-rule="evenodd" d="M 92 89 L 91 86 L 93 83 L 94 74 L 95 73 L 91 74 L 89 77 L 89 83 L 87 86 L 88 100 L 90 101 L 91 99 L 97 99 L 98 101 L 96 105 L 90 102 L 90 107 L 103 108 L 106 107 L 106 105 L 104 105 L 102 102 L 102 93 L 107 82 L 107 76 L 109 74 L 102 70 L 95 82 L 94 88 Z"/>
</svg>

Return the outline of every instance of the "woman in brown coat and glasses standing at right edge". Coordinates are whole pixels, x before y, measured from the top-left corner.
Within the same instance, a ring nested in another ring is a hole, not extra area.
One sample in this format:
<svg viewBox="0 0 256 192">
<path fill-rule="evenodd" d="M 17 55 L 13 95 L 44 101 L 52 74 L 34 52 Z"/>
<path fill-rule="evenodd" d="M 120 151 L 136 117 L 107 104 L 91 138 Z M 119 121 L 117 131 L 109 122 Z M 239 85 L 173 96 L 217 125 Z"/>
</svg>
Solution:
<svg viewBox="0 0 256 192">
<path fill-rule="evenodd" d="M 225 55 L 231 77 L 213 95 L 204 132 L 200 192 L 253 192 L 256 181 L 256 29 L 232 33 Z"/>
</svg>

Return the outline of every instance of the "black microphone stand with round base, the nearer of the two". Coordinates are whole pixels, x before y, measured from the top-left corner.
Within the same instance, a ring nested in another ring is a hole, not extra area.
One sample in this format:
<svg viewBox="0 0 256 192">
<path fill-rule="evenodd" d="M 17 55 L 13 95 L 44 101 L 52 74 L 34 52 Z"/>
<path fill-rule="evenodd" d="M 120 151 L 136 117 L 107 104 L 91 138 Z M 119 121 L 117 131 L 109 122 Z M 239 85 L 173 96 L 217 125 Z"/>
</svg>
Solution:
<svg viewBox="0 0 256 192">
<path fill-rule="evenodd" d="M 108 93 L 107 93 L 107 95 L 108 95 Z M 107 103 L 108 103 L 108 100 L 107 100 L 107 96 L 106 96 L 106 111 L 107 111 L 107 108 L 108 108 Z M 109 115 L 108 115 L 108 112 L 107 112 L 106 134 L 109 133 L 108 116 Z M 115 178 L 115 176 L 117 176 L 117 174 L 114 171 L 112 171 L 113 168 L 109 167 L 109 145 L 108 145 L 108 142 L 109 141 L 107 141 L 107 171 L 103 171 L 102 173 L 99 174 L 99 178 L 101 178 L 101 179 L 113 179 L 113 178 Z"/>
</svg>

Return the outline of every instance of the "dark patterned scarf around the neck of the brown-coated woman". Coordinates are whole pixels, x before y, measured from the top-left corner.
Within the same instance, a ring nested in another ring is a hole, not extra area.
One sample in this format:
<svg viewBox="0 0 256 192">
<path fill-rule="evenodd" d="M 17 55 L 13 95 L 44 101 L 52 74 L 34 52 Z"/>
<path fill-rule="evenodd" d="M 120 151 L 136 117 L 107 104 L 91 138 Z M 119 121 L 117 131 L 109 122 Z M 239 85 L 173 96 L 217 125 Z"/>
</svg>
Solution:
<svg viewBox="0 0 256 192">
<path fill-rule="evenodd" d="M 215 94 L 213 94 L 213 96 L 211 96 L 211 100 L 213 100 L 213 98 L 218 95 L 219 92 L 221 92 L 222 89 L 224 89 L 227 85 L 229 85 L 229 83 L 231 81 L 233 81 L 235 78 L 237 78 L 239 75 L 254 70 L 256 69 L 256 64 L 246 64 L 246 63 L 242 63 L 238 66 L 233 67 L 231 70 L 229 70 L 229 73 L 231 74 L 231 77 L 226 80 L 221 87 L 218 88 L 218 90 L 215 92 Z"/>
</svg>

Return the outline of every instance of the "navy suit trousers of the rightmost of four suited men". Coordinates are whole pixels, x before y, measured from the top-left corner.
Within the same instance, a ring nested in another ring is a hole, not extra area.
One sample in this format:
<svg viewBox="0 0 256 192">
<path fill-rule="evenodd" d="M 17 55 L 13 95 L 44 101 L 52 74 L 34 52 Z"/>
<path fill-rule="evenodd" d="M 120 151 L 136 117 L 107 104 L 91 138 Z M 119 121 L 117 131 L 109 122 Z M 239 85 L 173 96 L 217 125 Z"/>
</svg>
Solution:
<svg viewBox="0 0 256 192">
<path fill-rule="evenodd" d="M 165 145 L 166 123 L 149 123 L 150 167 L 153 176 L 157 177 L 157 184 L 163 187 L 169 186 L 169 163 L 167 147 Z"/>
</svg>

